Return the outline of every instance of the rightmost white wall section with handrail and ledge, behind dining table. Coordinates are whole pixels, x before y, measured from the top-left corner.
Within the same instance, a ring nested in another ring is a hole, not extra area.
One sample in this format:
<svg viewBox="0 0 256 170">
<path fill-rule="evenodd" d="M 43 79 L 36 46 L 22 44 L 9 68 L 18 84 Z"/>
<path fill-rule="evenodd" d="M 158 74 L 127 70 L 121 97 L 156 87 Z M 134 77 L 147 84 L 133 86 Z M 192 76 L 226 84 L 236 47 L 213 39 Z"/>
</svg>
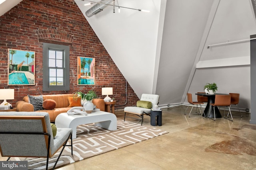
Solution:
<svg viewBox="0 0 256 170">
<path fill-rule="evenodd" d="M 218 93 L 240 93 L 238 106 L 250 108 L 250 41 L 232 42 L 250 39 L 256 33 L 251 2 L 215 0 L 210 16 L 188 92 L 202 92 L 204 84 L 215 82 Z M 231 43 L 207 48 L 226 42 Z"/>
</svg>

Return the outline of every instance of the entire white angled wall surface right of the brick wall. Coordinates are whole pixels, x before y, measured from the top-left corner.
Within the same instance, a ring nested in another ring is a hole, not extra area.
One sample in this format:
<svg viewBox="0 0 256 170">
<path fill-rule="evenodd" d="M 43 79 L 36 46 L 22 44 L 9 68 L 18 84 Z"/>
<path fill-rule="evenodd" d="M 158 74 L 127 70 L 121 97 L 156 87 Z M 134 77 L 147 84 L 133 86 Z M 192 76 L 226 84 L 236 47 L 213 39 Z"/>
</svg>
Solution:
<svg viewBox="0 0 256 170">
<path fill-rule="evenodd" d="M 110 7 L 86 19 L 138 97 L 186 104 L 187 92 L 196 99 L 216 82 L 218 93 L 240 93 L 238 106 L 250 108 L 250 41 L 207 48 L 256 34 L 250 0 L 119 0 L 131 4 L 150 13 Z"/>
</svg>

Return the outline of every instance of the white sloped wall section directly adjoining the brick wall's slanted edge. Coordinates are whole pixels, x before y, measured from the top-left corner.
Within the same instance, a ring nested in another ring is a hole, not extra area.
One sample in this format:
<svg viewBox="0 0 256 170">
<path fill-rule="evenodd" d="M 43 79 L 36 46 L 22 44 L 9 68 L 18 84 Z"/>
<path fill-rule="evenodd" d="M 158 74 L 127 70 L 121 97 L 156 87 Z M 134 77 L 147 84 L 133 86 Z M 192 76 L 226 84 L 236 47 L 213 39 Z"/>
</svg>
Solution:
<svg viewBox="0 0 256 170">
<path fill-rule="evenodd" d="M 121 8 L 113 13 L 109 6 L 88 18 L 83 6 L 88 2 L 75 0 L 92 29 L 108 51 L 138 97 L 153 90 L 155 66 L 160 55 L 166 0 L 118 0 L 120 6 L 149 10 L 149 13 Z M 161 3 L 162 2 L 162 3 Z M 161 8 L 161 10 L 160 10 Z M 158 51 L 158 54 L 157 54 Z"/>
</svg>

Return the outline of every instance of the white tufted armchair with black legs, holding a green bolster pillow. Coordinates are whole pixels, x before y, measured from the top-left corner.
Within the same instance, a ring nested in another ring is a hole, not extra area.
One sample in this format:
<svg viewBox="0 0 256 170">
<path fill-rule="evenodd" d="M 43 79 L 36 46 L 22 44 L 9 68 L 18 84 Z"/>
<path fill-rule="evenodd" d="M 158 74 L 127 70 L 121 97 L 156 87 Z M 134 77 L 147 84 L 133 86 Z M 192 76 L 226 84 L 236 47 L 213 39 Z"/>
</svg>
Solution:
<svg viewBox="0 0 256 170">
<path fill-rule="evenodd" d="M 156 94 L 142 94 L 141 98 L 140 98 L 140 101 L 151 102 L 152 106 L 157 105 L 158 104 L 158 100 L 159 100 L 159 95 L 156 95 Z M 125 121 L 126 117 L 129 117 L 129 118 L 132 118 L 132 119 L 138 119 L 138 120 L 140 120 L 140 118 L 141 118 L 141 125 L 142 125 L 144 114 L 150 116 L 151 108 L 144 108 L 144 107 L 137 107 L 137 106 L 124 107 L 124 121 Z M 137 115 L 140 118 L 126 116 L 126 113 Z"/>
</svg>

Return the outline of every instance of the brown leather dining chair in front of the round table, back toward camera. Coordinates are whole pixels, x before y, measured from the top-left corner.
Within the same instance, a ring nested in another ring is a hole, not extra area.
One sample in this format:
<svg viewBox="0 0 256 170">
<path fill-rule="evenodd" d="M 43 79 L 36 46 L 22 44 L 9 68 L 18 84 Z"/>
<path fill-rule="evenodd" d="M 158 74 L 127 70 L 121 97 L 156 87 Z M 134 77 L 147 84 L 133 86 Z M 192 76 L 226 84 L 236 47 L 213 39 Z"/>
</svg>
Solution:
<svg viewBox="0 0 256 170">
<path fill-rule="evenodd" d="M 231 96 L 230 95 L 216 94 L 214 103 L 210 103 L 211 106 L 210 106 L 210 109 L 209 109 L 209 115 L 210 115 L 210 110 L 213 107 L 213 109 L 214 109 L 214 121 L 215 121 L 216 120 L 215 106 L 228 107 L 228 110 L 229 110 L 228 115 L 230 113 L 230 116 L 231 116 L 231 119 L 229 119 L 229 120 L 233 121 L 233 117 L 232 117 L 232 114 L 231 114 L 231 111 L 230 111 L 230 104 L 231 104 Z M 228 119 L 228 117 L 225 117 L 225 113 L 224 113 L 224 118 Z"/>
</svg>

